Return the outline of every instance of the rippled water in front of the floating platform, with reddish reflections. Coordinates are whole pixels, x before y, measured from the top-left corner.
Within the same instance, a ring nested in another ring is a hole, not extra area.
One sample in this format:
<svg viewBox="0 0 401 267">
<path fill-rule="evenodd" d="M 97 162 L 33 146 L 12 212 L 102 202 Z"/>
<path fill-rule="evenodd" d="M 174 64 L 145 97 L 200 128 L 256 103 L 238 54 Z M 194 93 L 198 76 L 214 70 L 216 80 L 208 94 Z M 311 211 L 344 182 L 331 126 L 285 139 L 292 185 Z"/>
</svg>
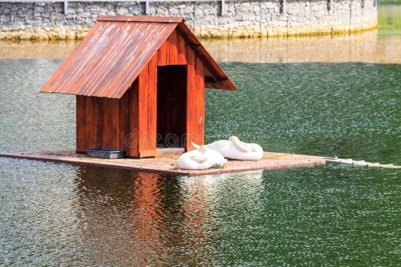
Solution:
<svg viewBox="0 0 401 267">
<path fill-rule="evenodd" d="M 171 177 L 10 160 L 10 265 L 396 265 L 399 176 L 307 167 Z M 5 201 L 5 200 L 4 200 Z M 3 202 L 2 202 L 3 203 Z"/>
</svg>

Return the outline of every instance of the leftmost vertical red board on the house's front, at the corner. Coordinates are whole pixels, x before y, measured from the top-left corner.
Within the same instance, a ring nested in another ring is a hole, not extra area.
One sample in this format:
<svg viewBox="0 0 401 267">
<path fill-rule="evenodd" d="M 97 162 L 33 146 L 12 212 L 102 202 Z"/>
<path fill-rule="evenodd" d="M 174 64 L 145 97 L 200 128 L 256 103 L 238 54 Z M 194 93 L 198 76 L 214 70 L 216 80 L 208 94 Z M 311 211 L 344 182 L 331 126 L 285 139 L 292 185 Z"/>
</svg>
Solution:
<svg viewBox="0 0 401 267">
<path fill-rule="evenodd" d="M 148 65 L 142 69 L 138 78 L 138 152 L 147 149 L 147 83 Z"/>
</svg>

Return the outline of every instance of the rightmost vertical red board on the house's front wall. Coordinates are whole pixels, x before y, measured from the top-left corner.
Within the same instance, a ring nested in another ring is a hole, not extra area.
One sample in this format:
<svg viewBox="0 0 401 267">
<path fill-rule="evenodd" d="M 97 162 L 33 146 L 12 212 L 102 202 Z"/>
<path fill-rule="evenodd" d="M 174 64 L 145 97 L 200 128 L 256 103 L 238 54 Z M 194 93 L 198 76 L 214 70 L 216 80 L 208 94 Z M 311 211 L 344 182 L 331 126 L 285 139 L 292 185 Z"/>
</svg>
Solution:
<svg viewBox="0 0 401 267">
<path fill-rule="evenodd" d="M 205 68 L 196 58 L 196 143 L 205 142 Z"/>
</svg>

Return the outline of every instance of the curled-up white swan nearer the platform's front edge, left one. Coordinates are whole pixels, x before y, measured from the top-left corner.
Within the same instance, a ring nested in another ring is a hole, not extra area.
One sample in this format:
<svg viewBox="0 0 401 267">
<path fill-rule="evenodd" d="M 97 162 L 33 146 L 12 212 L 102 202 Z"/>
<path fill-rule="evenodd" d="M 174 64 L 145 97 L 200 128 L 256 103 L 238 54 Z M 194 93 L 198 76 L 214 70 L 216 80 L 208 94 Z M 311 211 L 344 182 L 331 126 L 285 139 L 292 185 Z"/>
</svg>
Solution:
<svg viewBox="0 0 401 267">
<path fill-rule="evenodd" d="M 196 145 L 198 149 L 183 153 L 178 158 L 178 167 L 180 169 L 206 169 L 214 166 L 222 166 L 227 162 L 218 151 L 210 149 L 206 145 Z"/>
</svg>

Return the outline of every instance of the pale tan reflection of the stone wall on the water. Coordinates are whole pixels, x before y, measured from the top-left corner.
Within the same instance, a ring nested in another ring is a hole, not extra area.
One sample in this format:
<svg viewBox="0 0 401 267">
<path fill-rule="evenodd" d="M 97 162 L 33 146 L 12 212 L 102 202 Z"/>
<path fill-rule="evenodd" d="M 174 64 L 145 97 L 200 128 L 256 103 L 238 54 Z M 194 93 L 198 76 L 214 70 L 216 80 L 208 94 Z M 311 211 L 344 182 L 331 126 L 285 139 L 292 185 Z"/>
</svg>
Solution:
<svg viewBox="0 0 401 267">
<path fill-rule="evenodd" d="M 201 39 L 218 62 L 401 63 L 401 36 L 377 36 L 377 29 L 352 34 L 286 38 Z M 65 59 L 77 40 L 0 40 L 0 60 Z"/>
</svg>

